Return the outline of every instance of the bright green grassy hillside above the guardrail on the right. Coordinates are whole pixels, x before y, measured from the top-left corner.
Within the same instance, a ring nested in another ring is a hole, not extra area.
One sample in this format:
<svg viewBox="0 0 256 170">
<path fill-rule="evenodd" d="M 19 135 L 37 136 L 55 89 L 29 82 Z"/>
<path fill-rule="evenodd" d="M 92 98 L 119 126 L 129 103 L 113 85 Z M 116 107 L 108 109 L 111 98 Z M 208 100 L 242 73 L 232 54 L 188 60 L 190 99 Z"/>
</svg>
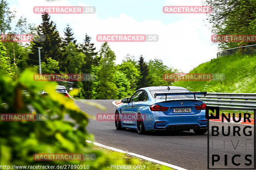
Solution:
<svg viewBox="0 0 256 170">
<path fill-rule="evenodd" d="M 230 55 L 202 63 L 190 73 L 224 73 L 224 81 L 175 81 L 190 91 L 256 93 L 256 56 Z"/>
</svg>

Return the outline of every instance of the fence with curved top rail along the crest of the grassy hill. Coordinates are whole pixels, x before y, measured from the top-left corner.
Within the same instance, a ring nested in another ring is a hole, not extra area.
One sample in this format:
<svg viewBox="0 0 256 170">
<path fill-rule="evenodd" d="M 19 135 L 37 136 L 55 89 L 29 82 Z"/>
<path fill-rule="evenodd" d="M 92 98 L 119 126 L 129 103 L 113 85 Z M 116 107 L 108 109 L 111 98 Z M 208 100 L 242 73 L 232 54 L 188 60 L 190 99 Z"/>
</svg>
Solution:
<svg viewBox="0 0 256 170">
<path fill-rule="evenodd" d="M 249 45 L 249 46 L 242 46 L 242 47 L 225 49 L 225 50 L 219 51 L 217 53 L 217 57 L 224 56 L 224 55 L 232 55 L 232 54 L 253 55 L 253 54 L 256 54 L 256 47 L 255 46 L 256 46 L 256 44 Z"/>
</svg>

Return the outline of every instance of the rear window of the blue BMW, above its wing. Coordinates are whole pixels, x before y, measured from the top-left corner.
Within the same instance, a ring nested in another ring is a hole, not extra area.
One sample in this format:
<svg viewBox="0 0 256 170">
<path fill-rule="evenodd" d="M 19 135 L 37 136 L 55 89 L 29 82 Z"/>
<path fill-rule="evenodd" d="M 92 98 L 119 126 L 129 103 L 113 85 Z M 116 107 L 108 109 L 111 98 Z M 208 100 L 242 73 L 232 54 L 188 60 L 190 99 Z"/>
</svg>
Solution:
<svg viewBox="0 0 256 170">
<path fill-rule="evenodd" d="M 179 89 L 175 89 L 175 90 L 154 90 L 154 91 L 150 91 L 151 95 L 153 96 L 153 98 L 155 99 L 154 95 L 155 93 L 159 94 L 159 93 L 186 93 L 186 92 L 190 92 L 189 90 L 179 90 Z M 173 95 L 173 96 L 167 96 L 167 99 L 184 99 L 184 98 L 194 98 L 194 95 Z M 156 99 L 165 99 L 165 95 L 163 96 L 156 96 Z"/>
</svg>

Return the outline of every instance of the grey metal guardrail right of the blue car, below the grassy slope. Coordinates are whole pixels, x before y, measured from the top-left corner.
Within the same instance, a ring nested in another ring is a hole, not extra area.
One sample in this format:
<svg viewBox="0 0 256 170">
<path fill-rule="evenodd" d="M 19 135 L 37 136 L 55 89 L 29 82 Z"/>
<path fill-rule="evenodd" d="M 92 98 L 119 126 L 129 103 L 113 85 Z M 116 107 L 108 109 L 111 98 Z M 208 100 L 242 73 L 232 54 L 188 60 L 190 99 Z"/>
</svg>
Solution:
<svg viewBox="0 0 256 170">
<path fill-rule="evenodd" d="M 215 93 L 207 92 L 206 96 L 196 95 L 206 105 L 220 108 L 252 109 L 256 108 L 256 93 Z"/>
</svg>

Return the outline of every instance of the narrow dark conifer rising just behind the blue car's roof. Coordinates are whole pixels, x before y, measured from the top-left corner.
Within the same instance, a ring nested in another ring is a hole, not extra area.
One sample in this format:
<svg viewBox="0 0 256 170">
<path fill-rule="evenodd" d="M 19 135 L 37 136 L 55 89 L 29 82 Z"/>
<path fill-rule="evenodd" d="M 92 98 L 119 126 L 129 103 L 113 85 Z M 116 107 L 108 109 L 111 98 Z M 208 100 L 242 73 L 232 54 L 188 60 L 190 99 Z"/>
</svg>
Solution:
<svg viewBox="0 0 256 170">
<path fill-rule="evenodd" d="M 140 55 L 139 60 L 140 79 L 137 83 L 138 88 L 147 87 L 151 84 L 151 78 L 148 77 L 148 65 L 144 62 L 144 58 Z"/>
</svg>

